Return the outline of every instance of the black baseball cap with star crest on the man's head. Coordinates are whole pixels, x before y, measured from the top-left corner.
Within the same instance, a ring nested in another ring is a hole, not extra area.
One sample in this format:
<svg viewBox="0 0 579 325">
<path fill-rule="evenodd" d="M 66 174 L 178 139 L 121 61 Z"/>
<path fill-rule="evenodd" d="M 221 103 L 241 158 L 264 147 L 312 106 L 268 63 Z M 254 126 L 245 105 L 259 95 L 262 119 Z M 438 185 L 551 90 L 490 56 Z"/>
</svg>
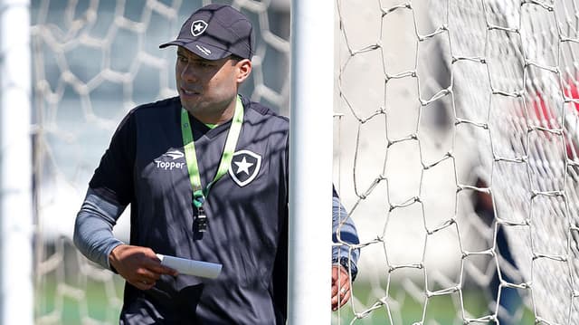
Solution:
<svg viewBox="0 0 579 325">
<path fill-rule="evenodd" d="M 207 60 L 232 54 L 243 59 L 253 55 L 252 22 L 230 5 L 205 5 L 191 14 L 173 42 L 159 45 L 183 46 Z"/>
</svg>

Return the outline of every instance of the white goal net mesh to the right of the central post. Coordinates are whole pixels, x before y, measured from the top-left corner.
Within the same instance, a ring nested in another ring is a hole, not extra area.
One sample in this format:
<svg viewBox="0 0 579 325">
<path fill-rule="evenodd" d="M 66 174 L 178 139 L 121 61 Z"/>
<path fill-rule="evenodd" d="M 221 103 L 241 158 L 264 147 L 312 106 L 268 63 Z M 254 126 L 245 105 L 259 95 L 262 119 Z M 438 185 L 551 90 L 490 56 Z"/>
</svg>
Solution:
<svg viewBox="0 0 579 325">
<path fill-rule="evenodd" d="M 337 178 L 370 283 L 337 320 L 577 323 L 577 4 L 337 11 Z"/>
</svg>

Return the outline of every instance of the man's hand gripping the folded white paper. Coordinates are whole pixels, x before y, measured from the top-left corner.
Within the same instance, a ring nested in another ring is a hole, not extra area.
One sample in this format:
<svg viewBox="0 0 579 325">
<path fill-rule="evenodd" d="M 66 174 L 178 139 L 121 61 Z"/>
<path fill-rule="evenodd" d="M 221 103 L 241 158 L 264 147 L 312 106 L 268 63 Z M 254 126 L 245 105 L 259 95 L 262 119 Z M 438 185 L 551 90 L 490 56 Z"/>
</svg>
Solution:
<svg viewBox="0 0 579 325">
<path fill-rule="evenodd" d="M 121 244 L 110 252 L 109 263 L 140 290 L 153 288 L 161 274 L 177 275 L 175 270 L 162 266 L 157 254 L 147 247 Z"/>
</svg>

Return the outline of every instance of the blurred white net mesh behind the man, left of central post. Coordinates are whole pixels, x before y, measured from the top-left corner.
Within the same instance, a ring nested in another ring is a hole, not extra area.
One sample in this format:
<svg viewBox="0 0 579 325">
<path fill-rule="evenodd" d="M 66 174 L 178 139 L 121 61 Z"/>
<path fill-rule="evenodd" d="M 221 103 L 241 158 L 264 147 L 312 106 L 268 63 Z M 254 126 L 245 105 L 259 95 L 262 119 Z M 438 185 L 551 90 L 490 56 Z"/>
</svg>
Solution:
<svg viewBox="0 0 579 325">
<path fill-rule="evenodd" d="M 36 321 L 118 323 L 123 283 L 71 244 L 88 181 L 120 119 L 175 96 L 176 53 L 159 50 L 210 1 L 32 1 L 35 115 Z M 252 78 L 242 92 L 287 114 L 289 3 L 220 1 L 256 29 Z M 128 241 L 128 216 L 116 228 Z"/>
</svg>

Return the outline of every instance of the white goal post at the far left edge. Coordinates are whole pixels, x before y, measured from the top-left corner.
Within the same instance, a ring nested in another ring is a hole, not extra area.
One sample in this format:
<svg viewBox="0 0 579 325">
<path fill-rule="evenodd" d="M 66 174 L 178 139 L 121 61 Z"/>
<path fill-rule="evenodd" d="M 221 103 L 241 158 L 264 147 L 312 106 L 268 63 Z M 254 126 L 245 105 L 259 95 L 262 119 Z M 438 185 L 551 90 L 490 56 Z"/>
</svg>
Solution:
<svg viewBox="0 0 579 325">
<path fill-rule="evenodd" d="M 0 324 L 33 324 L 30 2 L 0 1 Z"/>
</svg>

